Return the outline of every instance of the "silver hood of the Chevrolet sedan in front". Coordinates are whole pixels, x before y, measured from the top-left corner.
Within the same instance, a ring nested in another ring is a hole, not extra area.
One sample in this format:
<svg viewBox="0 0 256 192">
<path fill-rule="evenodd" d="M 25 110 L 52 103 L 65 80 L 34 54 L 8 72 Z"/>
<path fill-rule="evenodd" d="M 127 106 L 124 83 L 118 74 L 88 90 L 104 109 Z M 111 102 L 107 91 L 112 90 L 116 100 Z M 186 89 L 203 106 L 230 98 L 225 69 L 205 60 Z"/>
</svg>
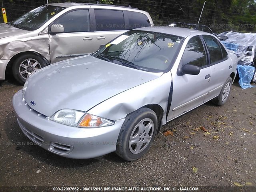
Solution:
<svg viewBox="0 0 256 192">
<path fill-rule="evenodd" d="M 89 55 L 36 72 L 28 78 L 24 98 L 32 109 L 46 116 L 64 108 L 88 111 L 100 102 L 162 74 L 128 68 Z"/>
</svg>

